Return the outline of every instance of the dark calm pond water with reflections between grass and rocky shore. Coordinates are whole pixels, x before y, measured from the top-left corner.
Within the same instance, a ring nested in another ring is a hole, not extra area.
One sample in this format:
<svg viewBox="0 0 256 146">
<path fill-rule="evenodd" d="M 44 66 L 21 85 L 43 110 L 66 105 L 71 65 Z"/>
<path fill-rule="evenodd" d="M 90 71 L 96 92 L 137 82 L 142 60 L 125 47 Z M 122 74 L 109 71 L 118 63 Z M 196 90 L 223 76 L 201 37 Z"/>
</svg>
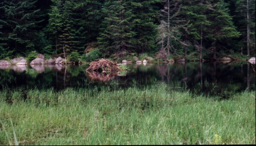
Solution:
<svg viewBox="0 0 256 146">
<path fill-rule="evenodd" d="M 0 90 L 2 88 L 110 88 L 138 87 L 165 82 L 174 90 L 194 93 L 221 94 L 255 90 L 255 64 L 249 62 L 188 62 L 186 64 L 128 65 L 128 71 L 117 76 L 88 73 L 89 65 L 34 65 L 0 66 Z"/>
</svg>

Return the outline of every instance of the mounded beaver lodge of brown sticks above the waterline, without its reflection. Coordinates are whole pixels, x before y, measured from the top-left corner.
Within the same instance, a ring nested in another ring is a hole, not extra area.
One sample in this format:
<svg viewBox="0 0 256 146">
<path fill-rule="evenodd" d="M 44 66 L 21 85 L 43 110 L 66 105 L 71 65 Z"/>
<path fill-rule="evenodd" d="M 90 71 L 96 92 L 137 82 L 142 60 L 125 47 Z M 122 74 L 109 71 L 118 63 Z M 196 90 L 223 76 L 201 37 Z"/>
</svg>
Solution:
<svg viewBox="0 0 256 146">
<path fill-rule="evenodd" d="M 90 67 L 86 71 L 106 74 L 117 74 L 121 71 L 119 65 L 107 59 L 99 59 L 90 63 Z"/>
</svg>

